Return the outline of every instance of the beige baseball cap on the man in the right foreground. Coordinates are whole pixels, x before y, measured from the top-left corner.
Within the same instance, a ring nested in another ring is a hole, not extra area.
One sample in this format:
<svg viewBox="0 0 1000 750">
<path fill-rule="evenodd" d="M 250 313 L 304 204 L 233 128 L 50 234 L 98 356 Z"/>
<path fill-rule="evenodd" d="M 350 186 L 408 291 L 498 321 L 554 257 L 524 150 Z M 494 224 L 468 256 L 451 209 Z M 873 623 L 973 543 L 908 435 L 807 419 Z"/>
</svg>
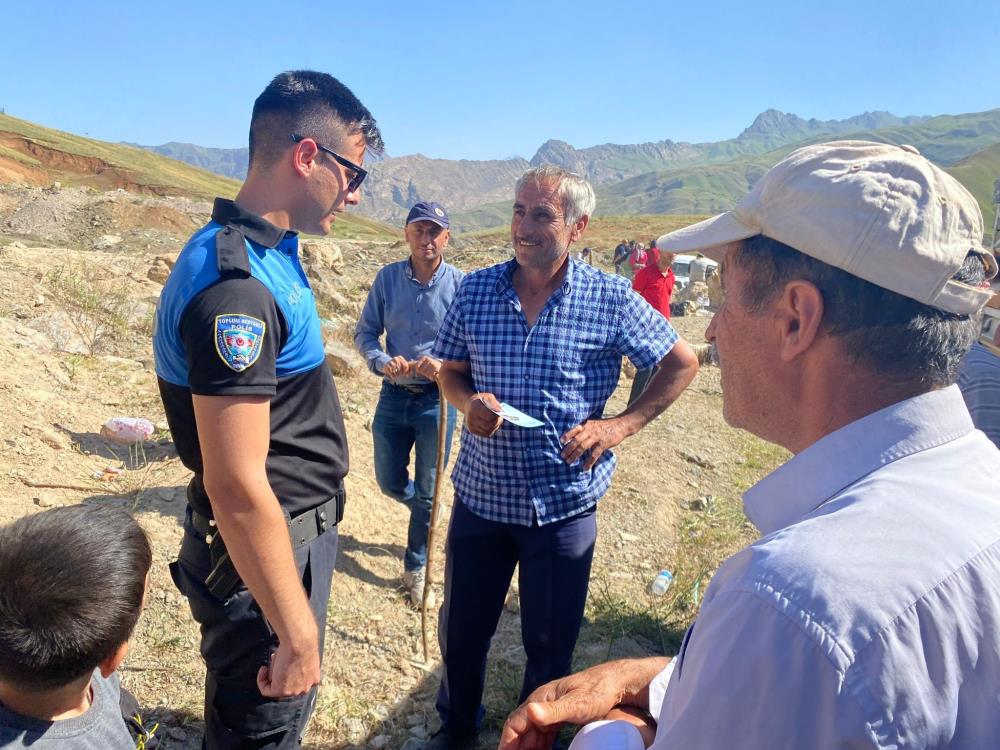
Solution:
<svg viewBox="0 0 1000 750">
<path fill-rule="evenodd" d="M 979 204 L 958 180 L 913 146 L 834 141 L 797 149 L 736 208 L 665 234 L 662 251 L 701 252 L 763 234 L 801 253 L 926 305 L 978 312 L 989 289 L 952 280 L 970 250 L 986 275 L 997 261 L 982 248 Z"/>
</svg>

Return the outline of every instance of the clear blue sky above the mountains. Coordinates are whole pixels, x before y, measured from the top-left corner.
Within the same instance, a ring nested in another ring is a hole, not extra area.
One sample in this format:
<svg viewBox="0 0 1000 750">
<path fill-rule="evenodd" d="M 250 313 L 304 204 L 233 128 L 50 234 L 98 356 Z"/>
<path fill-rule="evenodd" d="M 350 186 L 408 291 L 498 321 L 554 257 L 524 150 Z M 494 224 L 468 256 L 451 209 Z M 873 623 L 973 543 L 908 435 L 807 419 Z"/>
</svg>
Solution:
<svg viewBox="0 0 1000 750">
<path fill-rule="evenodd" d="M 995 0 L 11 5 L 0 107 L 111 141 L 245 145 L 254 98 L 289 68 L 350 86 L 394 156 L 714 141 L 770 107 L 1000 107 Z"/>
</svg>

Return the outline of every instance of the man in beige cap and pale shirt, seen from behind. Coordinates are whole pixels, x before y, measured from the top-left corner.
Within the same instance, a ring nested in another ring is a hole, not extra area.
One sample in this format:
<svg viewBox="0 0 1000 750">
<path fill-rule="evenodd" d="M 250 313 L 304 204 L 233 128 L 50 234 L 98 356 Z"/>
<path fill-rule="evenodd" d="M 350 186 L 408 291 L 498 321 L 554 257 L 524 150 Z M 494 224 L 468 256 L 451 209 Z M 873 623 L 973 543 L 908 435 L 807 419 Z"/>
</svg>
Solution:
<svg viewBox="0 0 1000 750">
<path fill-rule="evenodd" d="M 795 456 L 744 495 L 762 536 L 677 656 L 542 686 L 502 750 L 563 722 L 593 722 L 571 750 L 996 746 L 1000 451 L 952 385 L 997 271 L 982 233 L 915 149 L 844 141 L 657 241 L 722 262 L 724 416 Z"/>
</svg>

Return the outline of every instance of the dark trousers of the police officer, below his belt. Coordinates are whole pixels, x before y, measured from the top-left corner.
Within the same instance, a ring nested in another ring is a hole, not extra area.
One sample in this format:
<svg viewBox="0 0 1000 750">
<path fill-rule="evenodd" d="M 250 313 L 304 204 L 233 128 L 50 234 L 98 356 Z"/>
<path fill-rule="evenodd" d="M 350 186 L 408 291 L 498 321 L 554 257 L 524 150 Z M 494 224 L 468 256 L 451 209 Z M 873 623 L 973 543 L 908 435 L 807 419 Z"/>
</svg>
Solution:
<svg viewBox="0 0 1000 750">
<path fill-rule="evenodd" d="M 319 625 L 320 656 L 326 608 L 337 557 L 337 527 L 295 550 L 295 562 Z M 273 646 L 260 609 L 246 587 L 219 601 L 205 587 L 210 570 L 208 545 L 191 526 L 190 510 L 174 584 L 187 597 L 201 626 L 205 659 L 205 738 L 208 750 L 288 750 L 298 748 L 316 702 L 316 688 L 300 698 L 273 700 L 257 688 L 257 672 Z"/>
</svg>

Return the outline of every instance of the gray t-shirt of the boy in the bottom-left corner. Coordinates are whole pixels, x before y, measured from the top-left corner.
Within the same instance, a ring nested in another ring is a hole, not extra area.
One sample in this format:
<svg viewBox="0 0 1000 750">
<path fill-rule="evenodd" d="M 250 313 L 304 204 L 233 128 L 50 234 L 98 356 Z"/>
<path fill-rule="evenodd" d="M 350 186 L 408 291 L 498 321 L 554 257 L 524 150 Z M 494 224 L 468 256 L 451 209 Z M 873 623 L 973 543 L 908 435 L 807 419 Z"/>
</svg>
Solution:
<svg viewBox="0 0 1000 750">
<path fill-rule="evenodd" d="M 90 684 L 94 688 L 93 703 L 72 719 L 42 721 L 0 706 L 0 750 L 135 750 L 119 708 L 118 675 L 104 679 L 94 670 Z"/>
</svg>

